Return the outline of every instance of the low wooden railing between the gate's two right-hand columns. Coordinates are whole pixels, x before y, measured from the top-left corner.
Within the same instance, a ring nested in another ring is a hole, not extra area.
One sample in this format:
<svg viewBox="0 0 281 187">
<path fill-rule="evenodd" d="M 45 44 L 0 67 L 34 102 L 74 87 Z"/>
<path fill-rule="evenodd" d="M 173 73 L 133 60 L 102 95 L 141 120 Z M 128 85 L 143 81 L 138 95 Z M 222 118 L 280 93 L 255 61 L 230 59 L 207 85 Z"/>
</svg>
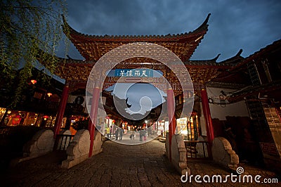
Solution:
<svg viewBox="0 0 281 187">
<path fill-rule="evenodd" d="M 208 150 L 207 150 L 207 146 L 208 142 L 207 141 L 184 141 L 185 143 L 185 148 L 186 148 L 186 157 L 188 157 L 188 159 L 192 158 L 192 159 L 209 159 L 208 156 Z M 198 150 L 196 149 L 196 145 L 197 143 L 202 143 L 202 149 L 203 149 L 203 153 L 198 154 Z"/>
</svg>

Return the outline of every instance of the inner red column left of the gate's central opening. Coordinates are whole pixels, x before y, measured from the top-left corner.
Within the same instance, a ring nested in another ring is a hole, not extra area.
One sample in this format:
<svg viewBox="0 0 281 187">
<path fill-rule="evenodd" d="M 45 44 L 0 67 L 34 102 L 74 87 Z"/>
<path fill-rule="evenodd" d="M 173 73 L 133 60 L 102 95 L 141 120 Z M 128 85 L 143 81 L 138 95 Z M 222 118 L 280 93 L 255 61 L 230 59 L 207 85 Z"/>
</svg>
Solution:
<svg viewBox="0 0 281 187">
<path fill-rule="evenodd" d="M 92 156 L 93 152 L 93 139 L 95 138 L 95 129 L 96 129 L 96 120 L 98 115 L 98 101 L 100 98 L 100 88 L 95 86 L 93 88 L 93 98 L 91 103 L 91 112 L 90 112 L 90 120 L 89 120 L 89 132 L 90 132 L 90 150 L 89 157 Z"/>
</svg>

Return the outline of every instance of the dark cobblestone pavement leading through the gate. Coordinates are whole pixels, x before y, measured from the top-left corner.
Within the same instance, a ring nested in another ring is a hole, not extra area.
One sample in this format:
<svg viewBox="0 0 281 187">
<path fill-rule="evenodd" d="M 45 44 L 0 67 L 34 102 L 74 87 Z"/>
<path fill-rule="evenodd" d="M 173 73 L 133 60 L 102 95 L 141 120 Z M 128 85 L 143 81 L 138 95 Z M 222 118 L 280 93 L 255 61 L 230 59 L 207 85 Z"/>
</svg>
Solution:
<svg viewBox="0 0 281 187">
<path fill-rule="evenodd" d="M 103 153 L 70 169 L 60 168 L 62 159 L 54 154 L 22 162 L 1 174 L 0 186 L 190 186 L 189 182 L 181 182 L 181 175 L 171 167 L 164 150 L 164 143 L 157 140 L 138 146 L 105 141 Z M 188 166 L 194 176 L 230 174 L 207 161 L 192 160 Z M 260 174 L 261 181 L 276 177 L 263 169 L 242 167 L 244 174 Z M 228 183 L 195 183 L 193 180 L 191 186 L 256 186 L 256 183 L 231 183 L 230 180 Z"/>
</svg>

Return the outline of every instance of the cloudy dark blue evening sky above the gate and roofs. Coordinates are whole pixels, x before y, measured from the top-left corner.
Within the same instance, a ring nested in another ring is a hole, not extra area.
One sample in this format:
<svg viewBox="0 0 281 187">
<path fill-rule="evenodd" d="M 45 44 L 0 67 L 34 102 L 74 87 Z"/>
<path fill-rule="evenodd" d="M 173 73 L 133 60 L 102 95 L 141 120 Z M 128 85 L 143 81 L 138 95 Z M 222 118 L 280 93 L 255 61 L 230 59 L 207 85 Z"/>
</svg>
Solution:
<svg viewBox="0 0 281 187">
<path fill-rule="evenodd" d="M 191 60 L 218 62 L 243 49 L 247 57 L 281 39 L 281 1 L 67 1 L 67 22 L 93 35 L 181 34 L 197 29 L 208 13 L 209 30 Z M 62 53 L 58 53 L 61 56 Z M 71 58 L 82 59 L 71 46 Z"/>
</svg>

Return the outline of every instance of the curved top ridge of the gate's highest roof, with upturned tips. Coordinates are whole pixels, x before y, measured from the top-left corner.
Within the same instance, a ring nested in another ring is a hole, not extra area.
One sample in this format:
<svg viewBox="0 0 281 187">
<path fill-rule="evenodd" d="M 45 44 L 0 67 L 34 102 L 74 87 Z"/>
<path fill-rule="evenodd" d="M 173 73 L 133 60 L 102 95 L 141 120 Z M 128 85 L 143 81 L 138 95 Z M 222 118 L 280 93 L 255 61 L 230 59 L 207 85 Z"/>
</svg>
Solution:
<svg viewBox="0 0 281 187">
<path fill-rule="evenodd" d="M 78 32 L 77 30 L 74 30 L 68 23 L 67 20 L 65 19 L 65 16 L 62 15 L 63 17 L 63 32 L 65 32 L 65 34 L 67 35 L 67 37 L 71 37 L 70 33 L 72 34 L 77 34 L 77 35 L 81 35 L 83 37 L 90 37 L 93 39 L 110 39 L 110 38 L 118 38 L 118 39 L 122 39 L 122 38 L 130 38 L 130 39 L 138 39 L 138 38 L 174 38 L 174 37 L 187 37 L 189 34 L 197 34 L 203 31 L 208 30 L 208 20 L 210 17 L 211 13 L 209 13 L 207 15 L 207 18 L 204 20 L 204 22 L 202 23 L 202 25 L 200 25 L 196 30 L 192 31 L 192 32 L 185 32 L 185 33 L 181 33 L 181 34 L 165 34 L 165 35 L 94 35 L 94 34 L 83 34 L 81 32 Z"/>
</svg>

